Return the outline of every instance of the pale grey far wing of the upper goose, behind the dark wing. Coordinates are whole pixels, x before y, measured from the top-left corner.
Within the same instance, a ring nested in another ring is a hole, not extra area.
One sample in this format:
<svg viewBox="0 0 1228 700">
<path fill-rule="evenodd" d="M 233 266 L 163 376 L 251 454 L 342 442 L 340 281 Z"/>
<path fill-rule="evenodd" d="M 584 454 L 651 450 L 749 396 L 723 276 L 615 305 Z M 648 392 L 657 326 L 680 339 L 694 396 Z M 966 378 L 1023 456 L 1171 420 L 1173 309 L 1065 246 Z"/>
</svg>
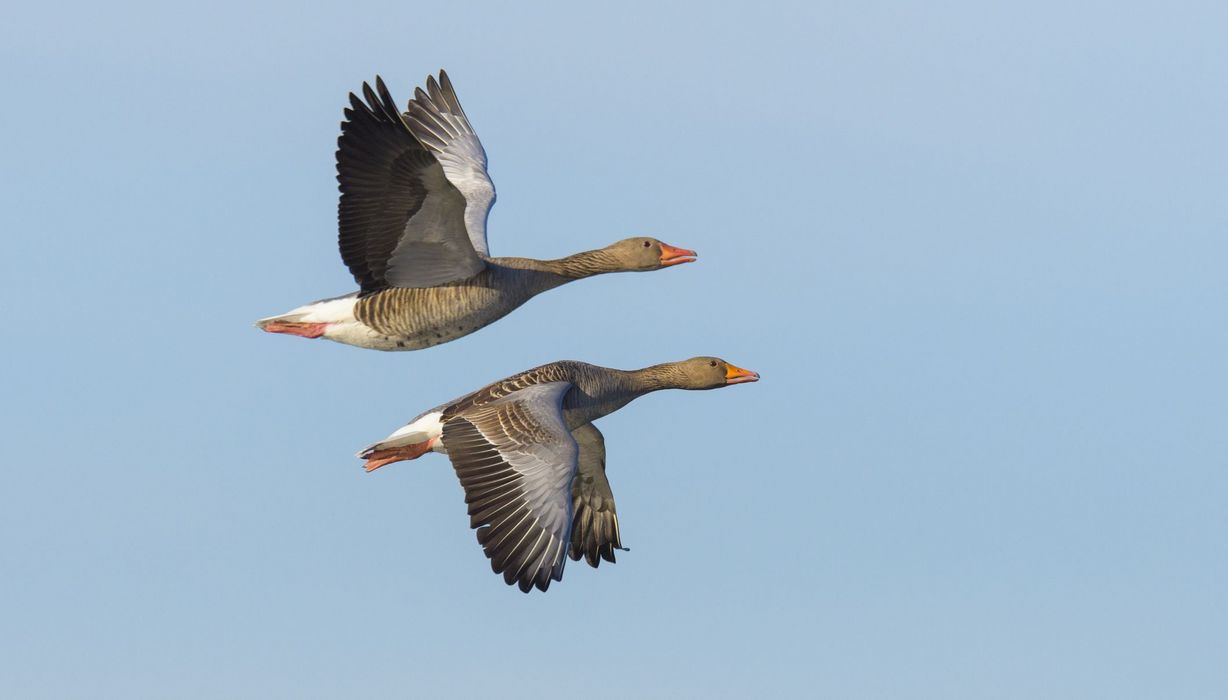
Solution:
<svg viewBox="0 0 1228 700">
<path fill-rule="evenodd" d="M 446 71 L 440 71 L 438 82 L 435 76 L 427 76 L 426 92 L 421 87 L 414 90 L 405 123 L 443 166 L 448 182 L 464 195 L 469 242 L 480 255 L 489 257 L 486 216 L 495 204 L 495 183 L 486 172 L 486 151 L 460 108 Z"/>
</svg>

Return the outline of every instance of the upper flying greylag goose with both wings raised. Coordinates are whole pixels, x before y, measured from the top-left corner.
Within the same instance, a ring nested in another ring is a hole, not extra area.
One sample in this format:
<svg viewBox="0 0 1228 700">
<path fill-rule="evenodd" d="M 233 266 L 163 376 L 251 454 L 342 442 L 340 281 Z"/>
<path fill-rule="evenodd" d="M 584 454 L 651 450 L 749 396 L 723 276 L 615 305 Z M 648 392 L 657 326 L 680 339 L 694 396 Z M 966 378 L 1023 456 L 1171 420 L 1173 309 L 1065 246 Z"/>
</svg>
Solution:
<svg viewBox="0 0 1228 700">
<path fill-rule="evenodd" d="M 420 350 L 468 335 L 529 298 L 603 273 L 658 270 L 694 251 L 656 238 L 619 241 L 556 260 L 492 258 L 486 215 L 495 185 L 486 151 L 447 72 L 402 113 L 378 76 L 350 93 L 336 140 L 341 260 L 359 291 L 263 318 L 270 333 L 376 350 Z"/>
</svg>

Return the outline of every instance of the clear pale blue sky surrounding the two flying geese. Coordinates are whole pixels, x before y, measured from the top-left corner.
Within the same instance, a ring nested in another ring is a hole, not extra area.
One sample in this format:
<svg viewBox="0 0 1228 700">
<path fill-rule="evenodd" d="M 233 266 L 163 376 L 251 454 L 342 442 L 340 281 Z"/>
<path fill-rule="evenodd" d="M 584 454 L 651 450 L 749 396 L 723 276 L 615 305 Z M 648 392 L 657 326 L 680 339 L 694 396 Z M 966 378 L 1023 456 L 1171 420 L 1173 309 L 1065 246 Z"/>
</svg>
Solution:
<svg viewBox="0 0 1228 700">
<path fill-rule="evenodd" d="M 0 26 L 5 698 L 1228 696 L 1221 2 L 26 2 Z M 698 264 L 381 354 L 346 93 L 446 68 L 495 254 Z M 599 425 L 630 553 L 494 576 L 440 456 L 542 362 L 758 384 Z"/>
</svg>

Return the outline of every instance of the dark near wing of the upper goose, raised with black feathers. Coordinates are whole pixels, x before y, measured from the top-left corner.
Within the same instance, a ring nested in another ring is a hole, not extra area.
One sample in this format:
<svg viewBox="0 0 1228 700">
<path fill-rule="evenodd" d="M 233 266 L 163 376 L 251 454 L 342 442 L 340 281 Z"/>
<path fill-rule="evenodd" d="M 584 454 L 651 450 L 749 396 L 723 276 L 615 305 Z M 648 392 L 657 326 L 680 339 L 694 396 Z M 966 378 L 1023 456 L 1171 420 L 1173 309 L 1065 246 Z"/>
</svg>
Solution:
<svg viewBox="0 0 1228 700">
<path fill-rule="evenodd" d="M 362 84 L 362 96 L 350 93 L 336 140 L 338 242 L 360 294 L 478 274 L 485 262 L 465 230 L 464 195 L 414 136 L 383 80 L 376 77 L 376 90 Z"/>
</svg>

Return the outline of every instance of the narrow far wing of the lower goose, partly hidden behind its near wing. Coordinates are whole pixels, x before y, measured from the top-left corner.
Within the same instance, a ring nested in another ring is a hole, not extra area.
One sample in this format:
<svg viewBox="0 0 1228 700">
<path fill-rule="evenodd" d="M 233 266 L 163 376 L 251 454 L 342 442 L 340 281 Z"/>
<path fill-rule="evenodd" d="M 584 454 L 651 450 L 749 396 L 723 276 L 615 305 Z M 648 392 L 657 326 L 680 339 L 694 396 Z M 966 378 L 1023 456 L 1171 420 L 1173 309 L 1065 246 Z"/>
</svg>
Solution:
<svg viewBox="0 0 1228 700">
<path fill-rule="evenodd" d="M 580 446 L 576 479 L 571 483 L 571 549 L 575 561 L 583 556 L 593 569 L 600 560 L 614 562 L 623 549 L 618 532 L 614 492 L 605 479 L 605 438 L 592 424 L 571 431 Z"/>
</svg>

